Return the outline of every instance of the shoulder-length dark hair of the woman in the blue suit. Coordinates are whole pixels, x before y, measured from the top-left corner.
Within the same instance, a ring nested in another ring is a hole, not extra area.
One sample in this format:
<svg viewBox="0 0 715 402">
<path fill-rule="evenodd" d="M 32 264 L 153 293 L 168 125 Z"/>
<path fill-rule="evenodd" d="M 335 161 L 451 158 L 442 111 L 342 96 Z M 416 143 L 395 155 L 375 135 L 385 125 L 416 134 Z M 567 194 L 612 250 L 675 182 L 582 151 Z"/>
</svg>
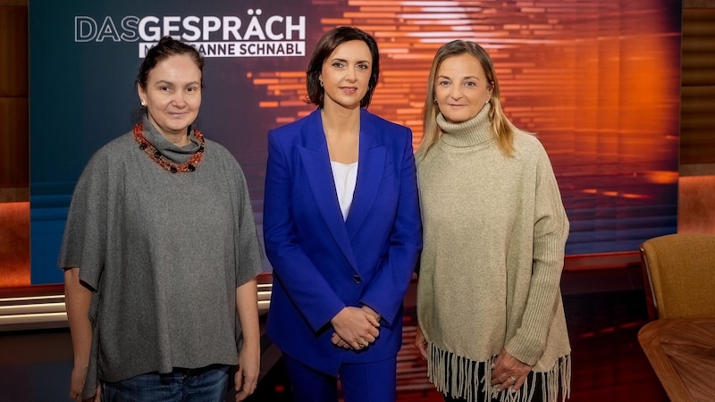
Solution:
<svg viewBox="0 0 715 402">
<path fill-rule="evenodd" d="M 310 57 L 310 63 L 307 65 L 306 71 L 306 87 L 307 100 L 313 105 L 323 107 L 324 89 L 320 86 L 320 73 L 323 71 L 323 63 L 338 46 L 351 40 L 361 40 L 366 43 L 370 49 L 370 54 L 373 57 L 372 71 L 370 72 L 370 81 L 367 87 L 367 93 L 360 100 L 361 107 L 370 105 L 370 100 L 373 98 L 374 87 L 377 85 L 377 79 L 380 73 L 380 53 L 377 49 L 377 42 L 374 38 L 365 31 L 353 27 L 338 27 L 329 30 L 320 38 L 315 45 L 313 55 Z"/>
</svg>

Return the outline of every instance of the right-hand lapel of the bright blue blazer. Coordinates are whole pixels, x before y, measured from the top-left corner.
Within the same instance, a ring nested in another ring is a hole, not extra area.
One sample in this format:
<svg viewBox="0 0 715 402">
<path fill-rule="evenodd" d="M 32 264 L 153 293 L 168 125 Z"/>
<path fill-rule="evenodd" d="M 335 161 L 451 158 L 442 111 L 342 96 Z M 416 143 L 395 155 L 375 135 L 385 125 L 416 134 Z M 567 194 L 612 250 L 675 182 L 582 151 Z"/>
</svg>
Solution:
<svg viewBox="0 0 715 402">
<path fill-rule="evenodd" d="M 365 110 L 360 110 L 360 148 L 357 156 L 357 183 L 355 194 L 345 228 L 349 239 L 353 239 L 357 231 L 372 209 L 380 181 L 383 179 L 385 155 L 387 148 L 377 141 L 378 127 Z"/>
</svg>

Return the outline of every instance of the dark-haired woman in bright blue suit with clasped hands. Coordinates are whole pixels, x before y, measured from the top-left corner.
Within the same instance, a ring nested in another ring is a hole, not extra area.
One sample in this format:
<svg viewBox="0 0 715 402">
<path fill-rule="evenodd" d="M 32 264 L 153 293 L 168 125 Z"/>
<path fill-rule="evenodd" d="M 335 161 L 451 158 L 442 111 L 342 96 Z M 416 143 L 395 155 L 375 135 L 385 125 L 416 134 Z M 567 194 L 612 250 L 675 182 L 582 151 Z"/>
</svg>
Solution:
<svg viewBox="0 0 715 402">
<path fill-rule="evenodd" d="M 317 109 L 268 133 L 266 333 L 296 401 L 394 401 L 402 299 L 422 247 L 412 131 L 366 107 L 374 38 L 340 27 L 315 46 Z"/>
</svg>

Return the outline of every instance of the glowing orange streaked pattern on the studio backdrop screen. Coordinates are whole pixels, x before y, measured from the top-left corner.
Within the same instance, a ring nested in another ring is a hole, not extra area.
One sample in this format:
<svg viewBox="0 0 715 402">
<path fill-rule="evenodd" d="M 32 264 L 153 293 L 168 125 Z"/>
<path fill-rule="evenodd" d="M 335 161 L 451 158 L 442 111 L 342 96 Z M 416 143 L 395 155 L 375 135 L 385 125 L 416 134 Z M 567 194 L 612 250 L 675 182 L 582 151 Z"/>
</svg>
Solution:
<svg viewBox="0 0 715 402">
<path fill-rule="evenodd" d="M 484 46 L 497 70 L 505 112 L 517 127 L 537 134 L 551 156 L 573 223 L 569 243 L 637 241 L 674 228 L 680 4 L 312 4 L 328 11 L 321 14 L 323 32 L 350 25 L 377 39 L 381 76 L 370 110 L 410 127 L 415 147 L 422 138 L 427 74 L 437 48 L 457 38 Z M 313 39 L 307 41 L 308 56 Z M 305 71 L 249 75 L 255 86 L 265 88 L 260 106 L 278 109 L 276 125 L 313 110 L 302 101 Z"/>
</svg>

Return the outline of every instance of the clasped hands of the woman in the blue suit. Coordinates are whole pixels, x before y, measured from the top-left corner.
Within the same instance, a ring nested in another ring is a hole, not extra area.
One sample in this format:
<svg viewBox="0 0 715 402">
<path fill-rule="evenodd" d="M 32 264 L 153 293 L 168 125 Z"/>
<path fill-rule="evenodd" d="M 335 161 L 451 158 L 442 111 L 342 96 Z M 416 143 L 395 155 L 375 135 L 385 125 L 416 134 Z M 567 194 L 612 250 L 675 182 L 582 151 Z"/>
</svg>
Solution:
<svg viewBox="0 0 715 402">
<path fill-rule="evenodd" d="M 380 314 L 368 306 L 345 307 L 332 317 L 331 342 L 339 348 L 367 348 L 380 335 Z"/>
</svg>

